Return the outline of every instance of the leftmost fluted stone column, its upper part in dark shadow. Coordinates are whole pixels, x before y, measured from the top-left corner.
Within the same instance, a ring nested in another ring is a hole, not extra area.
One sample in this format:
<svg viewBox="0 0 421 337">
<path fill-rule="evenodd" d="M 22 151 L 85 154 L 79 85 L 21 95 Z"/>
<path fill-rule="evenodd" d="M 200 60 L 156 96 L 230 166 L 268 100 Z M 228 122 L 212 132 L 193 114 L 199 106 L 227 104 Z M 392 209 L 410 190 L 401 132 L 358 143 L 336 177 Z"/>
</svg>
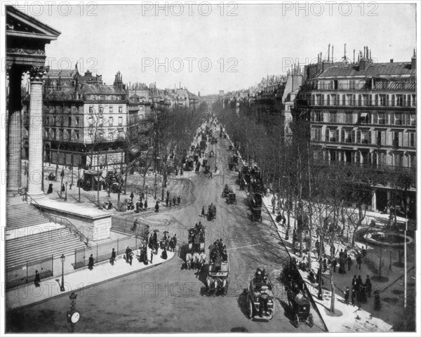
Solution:
<svg viewBox="0 0 421 337">
<path fill-rule="evenodd" d="M 8 146 L 7 146 L 7 194 L 18 194 L 21 185 L 21 143 L 22 143 L 22 68 L 13 65 L 8 70 Z"/>
</svg>

